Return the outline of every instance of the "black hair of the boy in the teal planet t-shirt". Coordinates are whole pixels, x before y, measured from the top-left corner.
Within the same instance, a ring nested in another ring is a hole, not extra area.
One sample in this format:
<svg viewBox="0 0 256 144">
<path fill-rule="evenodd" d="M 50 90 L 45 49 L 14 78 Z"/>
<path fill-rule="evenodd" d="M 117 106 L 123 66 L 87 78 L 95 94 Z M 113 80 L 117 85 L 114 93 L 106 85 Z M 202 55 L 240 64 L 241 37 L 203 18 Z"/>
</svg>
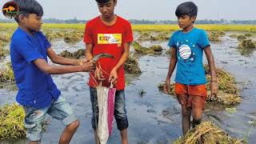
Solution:
<svg viewBox="0 0 256 144">
<path fill-rule="evenodd" d="M 198 15 L 198 6 L 194 4 L 194 2 L 183 2 L 178 5 L 175 15 L 179 18 L 183 15 L 188 15 L 191 17 L 196 17 Z"/>
</svg>

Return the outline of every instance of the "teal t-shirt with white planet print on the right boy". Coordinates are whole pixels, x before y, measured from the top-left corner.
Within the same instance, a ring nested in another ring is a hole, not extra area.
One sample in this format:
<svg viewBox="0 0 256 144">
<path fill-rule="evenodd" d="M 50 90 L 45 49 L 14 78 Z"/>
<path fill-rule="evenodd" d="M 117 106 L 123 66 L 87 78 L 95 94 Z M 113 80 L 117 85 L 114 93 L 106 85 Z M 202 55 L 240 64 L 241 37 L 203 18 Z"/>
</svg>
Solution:
<svg viewBox="0 0 256 144">
<path fill-rule="evenodd" d="M 203 49 L 210 46 L 205 30 L 193 28 L 187 33 L 175 31 L 168 46 L 177 50 L 177 73 L 175 82 L 186 85 L 206 83 L 206 74 L 202 64 Z"/>
</svg>

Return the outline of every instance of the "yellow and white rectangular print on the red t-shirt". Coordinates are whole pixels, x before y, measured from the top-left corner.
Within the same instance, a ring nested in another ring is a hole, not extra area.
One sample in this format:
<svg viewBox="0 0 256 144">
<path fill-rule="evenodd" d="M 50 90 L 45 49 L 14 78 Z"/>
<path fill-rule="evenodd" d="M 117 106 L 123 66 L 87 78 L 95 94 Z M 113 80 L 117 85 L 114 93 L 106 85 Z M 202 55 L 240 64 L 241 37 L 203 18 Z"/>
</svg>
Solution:
<svg viewBox="0 0 256 144">
<path fill-rule="evenodd" d="M 98 34 L 98 44 L 122 44 L 122 34 Z"/>
</svg>

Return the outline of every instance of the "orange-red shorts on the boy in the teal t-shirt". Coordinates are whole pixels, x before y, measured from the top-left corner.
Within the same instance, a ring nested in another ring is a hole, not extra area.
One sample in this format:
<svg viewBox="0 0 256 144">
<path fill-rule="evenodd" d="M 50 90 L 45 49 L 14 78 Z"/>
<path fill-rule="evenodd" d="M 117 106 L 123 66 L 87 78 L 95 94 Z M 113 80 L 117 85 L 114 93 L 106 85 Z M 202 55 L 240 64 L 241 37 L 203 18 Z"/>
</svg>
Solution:
<svg viewBox="0 0 256 144">
<path fill-rule="evenodd" d="M 205 110 L 207 98 L 206 85 L 184 85 L 175 83 L 175 94 L 182 106 Z"/>
</svg>

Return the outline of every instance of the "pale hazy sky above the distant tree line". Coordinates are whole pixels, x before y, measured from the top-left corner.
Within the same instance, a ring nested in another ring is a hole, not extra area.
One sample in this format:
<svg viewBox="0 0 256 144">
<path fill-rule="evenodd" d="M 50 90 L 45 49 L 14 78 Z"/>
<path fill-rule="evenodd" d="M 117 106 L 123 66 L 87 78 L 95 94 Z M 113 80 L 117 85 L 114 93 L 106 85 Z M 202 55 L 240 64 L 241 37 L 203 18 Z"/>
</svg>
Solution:
<svg viewBox="0 0 256 144">
<path fill-rule="evenodd" d="M 98 16 L 94 0 L 37 0 L 43 18 L 91 19 Z M 198 6 L 198 19 L 255 20 L 256 0 L 191 0 Z M 2 8 L 9 0 L 0 0 Z M 126 19 L 176 20 L 176 7 L 185 0 L 118 0 L 115 14 Z M 4 18 L 0 14 L 0 18 Z"/>
</svg>

